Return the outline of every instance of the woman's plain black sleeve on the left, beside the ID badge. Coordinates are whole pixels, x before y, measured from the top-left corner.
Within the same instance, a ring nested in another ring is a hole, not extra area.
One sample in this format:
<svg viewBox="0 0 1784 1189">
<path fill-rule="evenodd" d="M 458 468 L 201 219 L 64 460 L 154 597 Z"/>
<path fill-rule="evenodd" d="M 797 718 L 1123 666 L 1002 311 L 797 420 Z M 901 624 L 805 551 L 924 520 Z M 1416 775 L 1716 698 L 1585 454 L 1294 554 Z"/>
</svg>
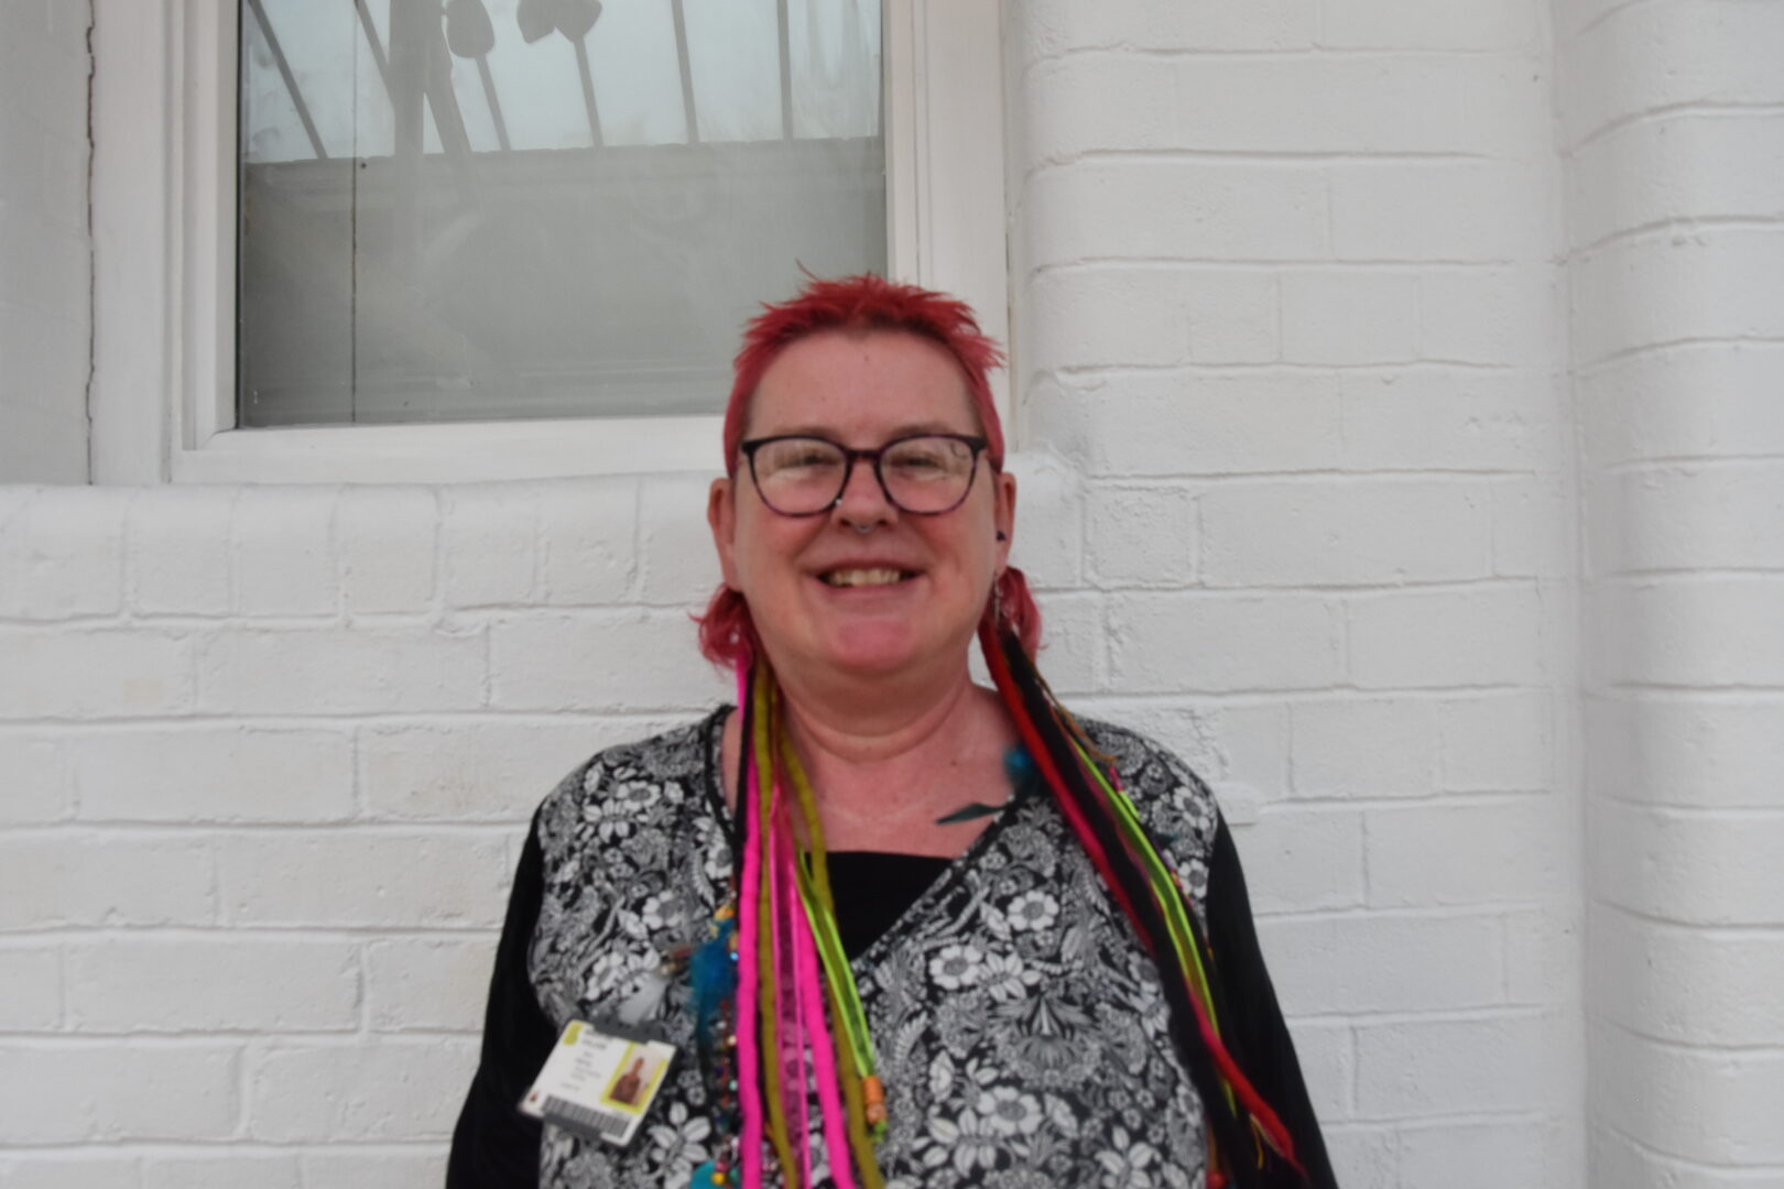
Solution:
<svg viewBox="0 0 1784 1189">
<path fill-rule="evenodd" d="M 557 1041 L 557 1029 L 539 1007 L 526 975 L 526 952 L 542 900 L 544 854 L 533 815 L 489 979 L 483 1054 L 451 1136 L 446 1189 L 539 1189 L 542 1128 L 539 1119 L 521 1114 L 517 1103 Z"/>
</svg>

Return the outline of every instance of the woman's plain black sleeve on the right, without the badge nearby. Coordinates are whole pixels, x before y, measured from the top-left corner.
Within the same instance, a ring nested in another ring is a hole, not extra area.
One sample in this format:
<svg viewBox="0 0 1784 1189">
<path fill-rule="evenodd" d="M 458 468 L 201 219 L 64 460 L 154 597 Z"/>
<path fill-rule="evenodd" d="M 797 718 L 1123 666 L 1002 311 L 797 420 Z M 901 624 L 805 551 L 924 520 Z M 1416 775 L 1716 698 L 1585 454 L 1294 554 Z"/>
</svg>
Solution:
<svg viewBox="0 0 1784 1189">
<path fill-rule="evenodd" d="M 1263 966 L 1258 948 L 1258 931 L 1251 920 L 1251 897 L 1245 895 L 1245 873 L 1238 865 L 1238 849 L 1226 818 L 1215 829 L 1213 852 L 1208 856 L 1208 948 L 1213 950 L 1220 982 L 1233 1013 L 1233 1048 L 1245 1075 L 1288 1127 L 1295 1141 L 1295 1157 L 1308 1173 L 1313 1189 L 1336 1189 L 1331 1159 L 1320 1121 L 1308 1102 L 1306 1082 L 1301 1080 L 1301 1062 L 1295 1045 L 1276 1004 L 1270 972 Z M 1224 1032 L 1226 1029 L 1222 1029 Z"/>
</svg>

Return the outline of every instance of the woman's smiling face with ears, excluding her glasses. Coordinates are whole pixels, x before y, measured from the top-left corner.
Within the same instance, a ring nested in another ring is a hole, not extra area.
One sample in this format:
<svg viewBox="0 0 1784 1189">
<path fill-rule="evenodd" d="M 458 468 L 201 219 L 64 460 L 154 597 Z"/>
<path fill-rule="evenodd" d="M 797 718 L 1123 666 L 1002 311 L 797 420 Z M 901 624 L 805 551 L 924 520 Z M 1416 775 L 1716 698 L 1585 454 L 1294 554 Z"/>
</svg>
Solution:
<svg viewBox="0 0 1784 1189">
<path fill-rule="evenodd" d="M 744 437 L 783 433 L 874 449 L 910 433 L 979 435 L 981 426 L 965 374 L 942 346 L 903 332 L 824 332 L 781 351 L 756 387 Z M 965 670 L 1010 553 L 997 535 L 1012 531 L 1015 515 L 1015 480 L 983 456 L 976 467 L 965 503 L 940 515 L 888 503 L 867 460 L 821 515 L 767 508 L 747 460 L 712 485 L 706 519 L 724 581 L 749 601 L 778 670 Z M 872 581 L 885 570 L 901 578 Z"/>
</svg>

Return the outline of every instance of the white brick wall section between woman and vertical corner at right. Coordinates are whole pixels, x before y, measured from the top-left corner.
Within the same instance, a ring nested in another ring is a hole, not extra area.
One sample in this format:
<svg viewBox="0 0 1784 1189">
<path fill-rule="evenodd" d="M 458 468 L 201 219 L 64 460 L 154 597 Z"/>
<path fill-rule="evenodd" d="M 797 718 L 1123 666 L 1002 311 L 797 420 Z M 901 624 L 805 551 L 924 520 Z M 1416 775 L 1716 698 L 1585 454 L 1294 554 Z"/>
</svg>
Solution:
<svg viewBox="0 0 1784 1189">
<path fill-rule="evenodd" d="M 1343 1184 L 1581 1184 L 1545 7 L 1006 14 L 1020 414 L 1085 469 L 1092 706 L 1247 822 Z"/>
</svg>

